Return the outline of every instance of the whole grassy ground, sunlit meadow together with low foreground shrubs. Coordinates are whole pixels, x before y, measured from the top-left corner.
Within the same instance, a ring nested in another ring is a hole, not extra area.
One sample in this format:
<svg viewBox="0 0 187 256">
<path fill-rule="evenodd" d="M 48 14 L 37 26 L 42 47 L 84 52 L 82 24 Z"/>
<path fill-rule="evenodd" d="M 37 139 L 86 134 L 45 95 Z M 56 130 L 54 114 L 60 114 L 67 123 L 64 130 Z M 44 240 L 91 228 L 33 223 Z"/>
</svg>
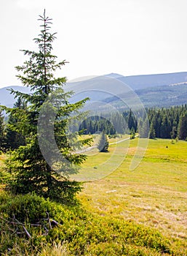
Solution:
<svg viewBox="0 0 187 256">
<path fill-rule="evenodd" d="M 4 192 L 9 176 L 1 155 L 0 255 L 187 255 L 187 142 L 148 140 L 134 170 L 138 138 L 114 142 L 109 140 L 107 153 L 87 152 L 78 178 L 89 181 L 77 196 L 78 206 Z M 43 219 L 48 228 L 46 212 L 59 225 L 43 235 L 46 230 L 31 223 Z M 31 238 L 21 227 L 16 236 L 7 222 L 12 216 Z"/>
</svg>

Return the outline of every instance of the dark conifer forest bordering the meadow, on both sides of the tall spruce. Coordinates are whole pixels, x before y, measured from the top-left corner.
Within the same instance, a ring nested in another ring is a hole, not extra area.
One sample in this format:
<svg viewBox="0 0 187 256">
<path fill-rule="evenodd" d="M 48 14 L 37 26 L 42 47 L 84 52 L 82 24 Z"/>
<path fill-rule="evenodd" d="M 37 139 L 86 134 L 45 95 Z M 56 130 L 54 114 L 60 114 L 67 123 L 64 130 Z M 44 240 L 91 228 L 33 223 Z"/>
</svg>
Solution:
<svg viewBox="0 0 187 256">
<path fill-rule="evenodd" d="M 17 107 L 17 105 L 15 106 Z M 20 106 L 19 106 L 20 108 Z M 170 108 L 147 108 L 150 138 L 187 138 L 187 105 Z M 105 117 L 103 117 L 105 116 Z M 139 119 L 140 121 L 140 119 Z M 91 116 L 85 119 L 79 129 L 84 129 L 84 134 L 95 134 L 98 131 L 105 131 L 109 136 L 116 134 L 138 132 L 138 118 L 132 110 L 122 113 L 105 113 L 100 116 Z M 9 117 L 8 123 L 13 124 L 16 120 Z M 4 124 L 4 116 L 0 116 L 0 145 L 1 150 L 18 148 L 24 145 L 22 135 L 12 132 Z"/>
</svg>

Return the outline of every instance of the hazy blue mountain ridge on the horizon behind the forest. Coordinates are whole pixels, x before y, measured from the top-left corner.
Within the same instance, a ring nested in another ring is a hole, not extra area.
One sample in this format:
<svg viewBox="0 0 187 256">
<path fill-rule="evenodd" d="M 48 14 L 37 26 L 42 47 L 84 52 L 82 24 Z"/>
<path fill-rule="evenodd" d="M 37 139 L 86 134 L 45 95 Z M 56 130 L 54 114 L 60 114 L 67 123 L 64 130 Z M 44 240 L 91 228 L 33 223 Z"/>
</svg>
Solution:
<svg viewBox="0 0 187 256">
<path fill-rule="evenodd" d="M 103 77 L 111 78 L 111 83 L 108 83 L 107 79 Z M 114 79 L 112 79 L 114 78 Z M 84 97 L 89 97 L 92 100 L 99 100 L 103 102 L 108 102 L 114 104 L 115 107 L 120 108 L 119 99 L 105 93 L 106 89 L 110 86 L 118 86 L 118 81 L 130 86 L 130 88 L 135 91 L 143 105 L 146 107 L 164 107 L 172 105 L 182 105 L 187 102 L 187 72 L 175 72 L 169 74 L 158 74 L 158 75 L 132 75 L 123 76 L 116 73 L 111 73 L 104 76 L 98 76 L 93 78 L 92 88 L 94 89 L 94 84 L 100 86 L 102 93 L 97 91 L 83 91 L 81 94 L 76 94 L 74 101 L 83 99 Z M 71 91 L 71 89 L 87 88 L 90 85 L 90 80 L 84 80 L 82 82 L 67 83 L 65 86 L 65 91 Z M 15 99 L 14 95 L 10 94 L 7 89 L 14 89 L 15 91 L 22 91 L 23 93 L 30 93 L 28 87 L 23 86 L 8 86 L 0 89 L 0 105 L 6 105 L 7 107 L 13 106 Z M 76 92 L 76 90 L 75 90 Z M 123 96 L 124 91 L 118 91 L 119 97 Z"/>
</svg>

